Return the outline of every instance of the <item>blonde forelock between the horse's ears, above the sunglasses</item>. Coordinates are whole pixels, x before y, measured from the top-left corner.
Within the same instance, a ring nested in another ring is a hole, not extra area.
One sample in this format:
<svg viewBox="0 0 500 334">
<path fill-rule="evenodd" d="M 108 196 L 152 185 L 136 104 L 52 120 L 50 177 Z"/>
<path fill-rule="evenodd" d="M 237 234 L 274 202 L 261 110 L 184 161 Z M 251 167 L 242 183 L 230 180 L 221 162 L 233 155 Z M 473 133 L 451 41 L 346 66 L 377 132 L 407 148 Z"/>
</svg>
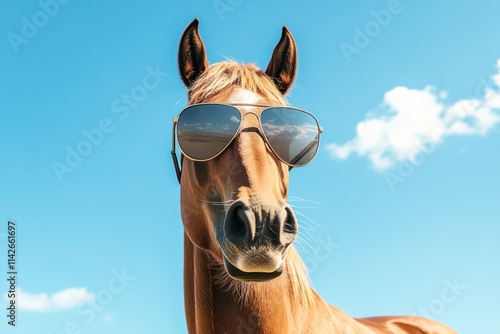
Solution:
<svg viewBox="0 0 500 334">
<path fill-rule="evenodd" d="M 233 88 L 254 92 L 269 103 L 286 105 L 286 100 L 271 79 L 254 64 L 223 61 L 210 66 L 189 87 L 189 104 L 206 102 Z"/>
</svg>

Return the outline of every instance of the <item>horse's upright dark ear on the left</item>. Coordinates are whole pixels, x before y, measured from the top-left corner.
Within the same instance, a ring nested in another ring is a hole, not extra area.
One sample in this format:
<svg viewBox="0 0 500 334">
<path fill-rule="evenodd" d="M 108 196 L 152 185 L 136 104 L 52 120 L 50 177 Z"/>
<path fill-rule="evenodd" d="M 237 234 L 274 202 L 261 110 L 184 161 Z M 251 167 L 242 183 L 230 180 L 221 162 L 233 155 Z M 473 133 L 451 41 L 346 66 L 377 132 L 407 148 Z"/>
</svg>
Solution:
<svg viewBox="0 0 500 334">
<path fill-rule="evenodd" d="M 187 87 L 208 69 L 205 45 L 198 33 L 198 23 L 198 19 L 194 19 L 187 26 L 179 43 L 179 73 Z"/>
</svg>

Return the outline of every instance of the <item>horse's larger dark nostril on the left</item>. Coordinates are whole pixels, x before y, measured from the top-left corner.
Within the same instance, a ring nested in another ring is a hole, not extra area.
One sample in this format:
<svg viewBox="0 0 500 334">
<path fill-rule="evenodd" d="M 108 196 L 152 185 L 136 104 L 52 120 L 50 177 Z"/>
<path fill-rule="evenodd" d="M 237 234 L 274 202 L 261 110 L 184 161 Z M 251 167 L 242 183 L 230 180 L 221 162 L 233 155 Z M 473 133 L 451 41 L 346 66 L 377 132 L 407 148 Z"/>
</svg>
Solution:
<svg viewBox="0 0 500 334">
<path fill-rule="evenodd" d="M 246 240 L 252 238 L 252 230 L 254 230 L 252 224 L 255 225 L 251 211 L 241 202 L 233 203 L 227 211 L 224 222 L 227 240 L 236 246 L 241 246 Z"/>
</svg>

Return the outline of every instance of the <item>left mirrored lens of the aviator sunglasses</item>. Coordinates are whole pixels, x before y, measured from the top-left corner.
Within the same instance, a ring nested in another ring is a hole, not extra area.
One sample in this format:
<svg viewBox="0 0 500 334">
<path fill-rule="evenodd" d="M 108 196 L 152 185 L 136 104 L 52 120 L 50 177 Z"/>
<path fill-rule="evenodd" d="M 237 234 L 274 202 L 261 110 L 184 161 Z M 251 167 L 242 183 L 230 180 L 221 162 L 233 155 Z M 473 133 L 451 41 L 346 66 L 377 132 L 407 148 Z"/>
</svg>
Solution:
<svg viewBox="0 0 500 334">
<path fill-rule="evenodd" d="M 188 107 L 179 115 L 179 147 L 191 159 L 211 159 L 229 144 L 240 120 L 238 109 L 230 106 L 201 104 Z"/>
</svg>

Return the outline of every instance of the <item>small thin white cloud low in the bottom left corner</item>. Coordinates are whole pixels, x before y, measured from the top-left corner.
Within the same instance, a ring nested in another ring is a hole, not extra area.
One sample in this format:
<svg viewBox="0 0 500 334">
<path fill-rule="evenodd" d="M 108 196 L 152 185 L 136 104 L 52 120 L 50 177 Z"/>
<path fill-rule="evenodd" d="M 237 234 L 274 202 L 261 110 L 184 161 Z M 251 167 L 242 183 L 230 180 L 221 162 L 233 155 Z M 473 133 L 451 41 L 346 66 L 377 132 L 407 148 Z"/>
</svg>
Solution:
<svg viewBox="0 0 500 334">
<path fill-rule="evenodd" d="M 16 297 L 19 309 L 46 312 L 72 309 L 79 304 L 94 299 L 94 294 L 88 292 L 85 288 L 68 288 L 49 296 L 46 293 L 32 294 L 18 288 Z"/>
</svg>

